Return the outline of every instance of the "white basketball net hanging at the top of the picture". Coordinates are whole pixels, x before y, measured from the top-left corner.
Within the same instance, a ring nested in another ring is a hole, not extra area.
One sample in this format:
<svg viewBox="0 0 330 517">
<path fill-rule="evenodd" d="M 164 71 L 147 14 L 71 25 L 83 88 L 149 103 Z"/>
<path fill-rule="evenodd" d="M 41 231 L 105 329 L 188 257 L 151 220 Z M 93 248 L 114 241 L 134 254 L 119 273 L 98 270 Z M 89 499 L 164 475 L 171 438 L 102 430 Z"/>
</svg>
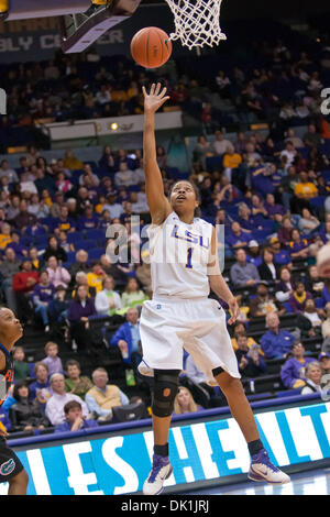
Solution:
<svg viewBox="0 0 330 517">
<path fill-rule="evenodd" d="M 175 32 L 170 40 L 180 40 L 189 50 L 218 45 L 227 40 L 220 29 L 222 0 L 166 0 L 173 14 Z"/>
</svg>

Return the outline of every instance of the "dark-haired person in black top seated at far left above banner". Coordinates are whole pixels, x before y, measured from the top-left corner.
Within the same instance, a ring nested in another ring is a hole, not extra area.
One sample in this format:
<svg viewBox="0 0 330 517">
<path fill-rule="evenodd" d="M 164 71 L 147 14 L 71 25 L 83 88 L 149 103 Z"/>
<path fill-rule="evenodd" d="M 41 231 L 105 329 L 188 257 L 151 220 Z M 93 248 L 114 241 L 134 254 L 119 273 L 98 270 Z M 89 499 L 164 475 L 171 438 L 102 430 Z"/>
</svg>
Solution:
<svg viewBox="0 0 330 517">
<path fill-rule="evenodd" d="M 9 409 L 11 420 L 11 431 L 35 431 L 50 426 L 48 418 L 45 417 L 36 400 L 29 397 L 29 384 L 20 381 L 14 385 L 13 397 L 15 404 Z"/>
</svg>

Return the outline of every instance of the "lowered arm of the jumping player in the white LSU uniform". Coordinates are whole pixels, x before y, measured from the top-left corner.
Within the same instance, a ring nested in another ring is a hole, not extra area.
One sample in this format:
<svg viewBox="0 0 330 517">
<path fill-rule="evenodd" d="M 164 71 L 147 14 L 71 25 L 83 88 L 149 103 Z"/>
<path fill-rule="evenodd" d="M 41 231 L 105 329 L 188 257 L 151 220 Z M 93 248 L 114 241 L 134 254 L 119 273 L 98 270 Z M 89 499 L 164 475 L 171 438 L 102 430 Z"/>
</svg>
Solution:
<svg viewBox="0 0 330 517">
<path fill-rule="evenodd" d="M 216 293 L 216 295 L 219 296 L 219 298 L 226 301 L 229 306 L 229 309 L 231 311 L 231 318 L 228 321 L 229 324 L 234 323 L 240 314 L 240 309 L 239 309 L 235 297 L 233 296 L 232 292 L 228 287 L 220 271 L 216 228 L 213 228 L 213 231 L 212 231 L 210 262 L 208 263 L 208 278 L 209 278 L 210 289 L 213 293 Z"/>
</svg>

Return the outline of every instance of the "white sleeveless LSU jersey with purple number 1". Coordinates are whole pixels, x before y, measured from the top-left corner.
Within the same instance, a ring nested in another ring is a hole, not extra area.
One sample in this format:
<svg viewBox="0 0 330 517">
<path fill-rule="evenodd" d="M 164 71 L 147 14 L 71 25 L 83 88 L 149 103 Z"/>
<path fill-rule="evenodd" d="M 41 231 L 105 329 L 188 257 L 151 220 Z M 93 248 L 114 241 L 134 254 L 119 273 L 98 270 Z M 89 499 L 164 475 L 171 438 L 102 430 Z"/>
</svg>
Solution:
<svg viewBox="0 0 330 517">
<path fill-rule="evenodd" d="M 175 212 L 148 229 L 153 296 L 197 298 L 209 295 L 207 265 L 212 224 L 195 218 L 187 224 Z"/>
</svg>

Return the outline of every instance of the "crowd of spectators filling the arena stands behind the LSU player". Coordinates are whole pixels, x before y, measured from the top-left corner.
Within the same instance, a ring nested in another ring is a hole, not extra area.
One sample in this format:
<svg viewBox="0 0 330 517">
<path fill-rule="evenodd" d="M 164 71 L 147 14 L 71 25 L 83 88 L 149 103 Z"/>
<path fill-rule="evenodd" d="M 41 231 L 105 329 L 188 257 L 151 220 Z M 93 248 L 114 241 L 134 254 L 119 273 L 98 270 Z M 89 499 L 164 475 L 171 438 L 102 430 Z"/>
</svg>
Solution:
<svg viewBox="0 0 330 517">
<path fill-rule="evenodd" d="M 197 185 L 201 217 L 224 228 L 223 276 L 240 305 L 229 330 L 244 389 L 253 395 L 251 381 L 275 374 L 280 389 L 321 393 L 330 373 L 330 280 L 318 276 L 316 256 L 330 240 L 330 127 L 318 101 L 329 62 L 306 52 L 293 56 L 283 42 L 253 52 L 261 68 L 220 70 L 210 91 L 233 106 L 240 123 L 277 123 L 267 134 L 239 130 L 229 139 L 213 107 L 206 107 L 190 170 L 179 177 Z M 63 56 L 46 67 L 12 67 L 3 85 L 12 108 L 2 125 L 143 111 L 148 73 L 123 62 L 110 72 L 99 63 L 88 85 L 82 64 Z M 190 109 L 204 102 L 196 79 L 173 77 L 173 103 Z M 177 176 L 161 146 L 157 161 L 168 194 Z M 152 297 L 142 246 L 151 219 L 141 148 L 106 145 L 102 156 L 82 163 L 70 150 L 47 162 L 31 146 L 20 167 L 1 162 L 0 184 L 1 301 L 28 329 L 40 326 L 45 333 L 43 360 L 29 363 L 22 346 L 14 350 L 15 384 L 0 421 L 11 432 L 59 432 L 116 421 L 121 407 L 150 415 L 147 398 L 129 397 L 109 382 L 101 358 L 88 374 L 76 360 L 77 352 L 91 358 L 106 342 L 102 353 L 117 351 L 127 386 L 141 382 L 139 315 Z M 132 216 L 140 216 L 138 223 Z M 111 321 L 110 332 L 96 332 L 102 318 Z M 70 350 L 65 364 L 57 341 Z M 185 354 L 175 413 L 223 404 Z"/>
</svg>

